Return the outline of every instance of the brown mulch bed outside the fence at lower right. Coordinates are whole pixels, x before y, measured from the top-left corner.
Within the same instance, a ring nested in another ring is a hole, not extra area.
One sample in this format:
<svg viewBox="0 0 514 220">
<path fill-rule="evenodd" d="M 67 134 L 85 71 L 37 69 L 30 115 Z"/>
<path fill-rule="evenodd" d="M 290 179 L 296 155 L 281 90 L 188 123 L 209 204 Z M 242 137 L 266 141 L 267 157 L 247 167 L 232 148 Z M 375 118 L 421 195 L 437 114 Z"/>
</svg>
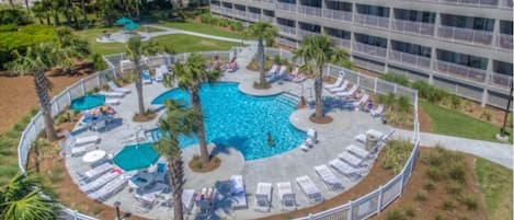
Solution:
<svg viewBox="0 0 514 220">
<path fill-rule="evenodd" d="M 434 148 L 421 148 L 420 159 L 429 154 L 431 151 L 435 151 Z M 373 220 L 384 220 L 388 216 L 388 212 L 392 210 L 414 210 L 414 217 L 408 219 L 416 220 L 434 220 L 438 219 L 473 219 L 473 220 L 486 220 L 487 212 L 482 196 L 479 195 L 477 180 L 473 174 L 475 158 L 469 154 L 465 154 L 466 164 L 466 184 L 462 187 L 461 194 L 468 194 L 476 196 L 477 209 L 469 210 L 464 206 L 456 196 L 448 193 L 448 183 L 446 181 L 435 182 L 434 188 L 430 192 L 424 189 L 424 185 L 427 183 L 426 172 L 427 165 L 418 160 L 412 176 L 409 178 L 409 183 L 403 188 L 403 195 L 393 201 L 381 215 L 378 215 Z M 426 200 L 420 200 L 416 198 L 416 194 L 426 195 Z M 444 208 L 446 207 L 446 208 Z M 446 210 L 444 210 L 446 209 Z"/>
</svg>

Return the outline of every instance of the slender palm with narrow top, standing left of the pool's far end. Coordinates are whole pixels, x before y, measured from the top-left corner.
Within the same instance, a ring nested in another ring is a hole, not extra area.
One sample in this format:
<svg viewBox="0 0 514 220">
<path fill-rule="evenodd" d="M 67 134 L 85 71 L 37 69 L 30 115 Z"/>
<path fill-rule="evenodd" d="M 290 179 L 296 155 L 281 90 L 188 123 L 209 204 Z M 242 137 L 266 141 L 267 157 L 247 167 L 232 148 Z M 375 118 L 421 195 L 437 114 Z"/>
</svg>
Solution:
<svg viewBox="0 0 514 220">
<path fill-rule="evenodd" d="M 133 36 L 128 39 L 127 43 L 127 54 L 130 60 L 136 66 L 136 90 L 137 90 L 137 101 L 139 106 L 139 115 L 145 115 L 145 103 L 142 100 L 142 82 L 141 82 L 141 38 L 139 35 Z"/>
</svg>

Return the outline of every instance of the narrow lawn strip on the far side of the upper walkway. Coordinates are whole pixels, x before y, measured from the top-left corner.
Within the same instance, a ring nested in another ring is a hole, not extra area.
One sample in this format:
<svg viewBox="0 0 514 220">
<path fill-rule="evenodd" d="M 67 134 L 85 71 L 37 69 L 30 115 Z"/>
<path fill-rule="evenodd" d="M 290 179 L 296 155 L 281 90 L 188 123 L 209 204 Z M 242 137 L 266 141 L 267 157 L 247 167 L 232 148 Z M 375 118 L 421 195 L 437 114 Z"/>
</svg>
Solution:
<svg viewBox="0 0 514 220">
<path fill-rule="evenodd" d="M 238 38 L 238 39 L 242 38 L 241 34 L 233 33 L 233 32 L 227 32 L 227 31 L 225 31 L 220 27 L 214 26 L 214 25 L 194 23 L 194 22 L 191 22 L 191 21 L 187 21 L 187 22 L 159 21 L 159 24 L 162 25 L 162 26 L 168 26 L 168 27 L 184 30 L 184 31 L 190 31 L 190 32 L 197 32 L 197 33 L 202 33 L 202 34 L 210 34 L 210 35 L 230 37 L 230 38 Z"/>
</svg>

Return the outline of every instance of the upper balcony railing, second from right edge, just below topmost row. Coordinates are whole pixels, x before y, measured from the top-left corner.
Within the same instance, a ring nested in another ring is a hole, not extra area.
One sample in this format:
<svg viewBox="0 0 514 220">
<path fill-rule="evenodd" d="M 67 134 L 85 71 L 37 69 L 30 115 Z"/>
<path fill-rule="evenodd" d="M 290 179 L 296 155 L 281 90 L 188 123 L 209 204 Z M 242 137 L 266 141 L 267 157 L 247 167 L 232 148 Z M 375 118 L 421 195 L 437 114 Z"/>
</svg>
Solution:
<svg viewBox="0 0 514 220">
<path fill-rule="evenodd" d="M 464 40 L 472 44 L 491 45 L 492 32 L 455 26 L 438 26 L 438 36 L 453 40 Z"/>
</svg>

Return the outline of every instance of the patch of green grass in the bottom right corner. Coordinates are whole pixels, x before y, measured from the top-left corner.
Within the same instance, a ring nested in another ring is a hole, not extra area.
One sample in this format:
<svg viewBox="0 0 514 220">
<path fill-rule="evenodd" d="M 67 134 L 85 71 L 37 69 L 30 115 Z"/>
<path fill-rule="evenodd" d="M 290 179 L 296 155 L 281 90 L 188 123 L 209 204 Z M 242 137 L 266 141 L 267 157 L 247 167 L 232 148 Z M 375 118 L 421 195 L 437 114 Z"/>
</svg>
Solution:
<svg viewBox="0 0 514 220">
<path fill-rule="evenodd" d="M 479 183 L 479 190 L 486 199 L 489 219 L 512 220 L 512 170 L 477 158 L 475 175 Z"/>
</svg>

